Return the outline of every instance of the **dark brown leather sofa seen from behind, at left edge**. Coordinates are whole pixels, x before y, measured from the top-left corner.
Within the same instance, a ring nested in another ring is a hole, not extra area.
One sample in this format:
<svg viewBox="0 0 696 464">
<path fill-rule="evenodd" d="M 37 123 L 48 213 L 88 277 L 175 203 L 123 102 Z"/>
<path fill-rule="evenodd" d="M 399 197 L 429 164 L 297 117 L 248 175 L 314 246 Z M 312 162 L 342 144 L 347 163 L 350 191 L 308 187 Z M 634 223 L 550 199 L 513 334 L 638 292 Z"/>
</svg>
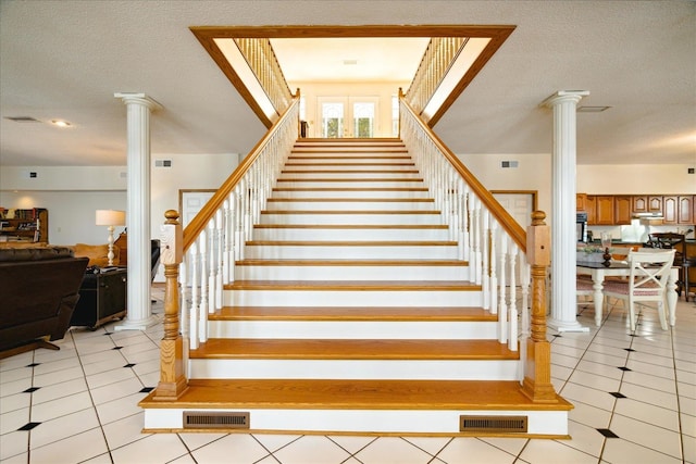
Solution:
<svg viewBox="0 0 696 464">
<path fill-rule="evenodd" d="M 66 247 L 0 248 L 0 359 L 65 336 L 87 258 Z"/>
</svg>

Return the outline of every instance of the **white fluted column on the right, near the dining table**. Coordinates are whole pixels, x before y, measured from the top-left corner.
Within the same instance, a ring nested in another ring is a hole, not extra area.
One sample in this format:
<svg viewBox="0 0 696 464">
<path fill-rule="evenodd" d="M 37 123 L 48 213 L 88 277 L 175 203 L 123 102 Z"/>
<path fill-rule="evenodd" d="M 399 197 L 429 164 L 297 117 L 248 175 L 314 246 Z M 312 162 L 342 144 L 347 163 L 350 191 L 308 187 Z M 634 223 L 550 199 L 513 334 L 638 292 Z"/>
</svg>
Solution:
<svg viewBox="0 0 696 464">
<path fill-rule="evenodd" d="M 554 109 L 551 158 L 551 316 L 559 331 L 588 331 L 577 323 L 575 294 L 576 106 L 586 90 L 559 90 L 542 102 Z"/>
</svg>

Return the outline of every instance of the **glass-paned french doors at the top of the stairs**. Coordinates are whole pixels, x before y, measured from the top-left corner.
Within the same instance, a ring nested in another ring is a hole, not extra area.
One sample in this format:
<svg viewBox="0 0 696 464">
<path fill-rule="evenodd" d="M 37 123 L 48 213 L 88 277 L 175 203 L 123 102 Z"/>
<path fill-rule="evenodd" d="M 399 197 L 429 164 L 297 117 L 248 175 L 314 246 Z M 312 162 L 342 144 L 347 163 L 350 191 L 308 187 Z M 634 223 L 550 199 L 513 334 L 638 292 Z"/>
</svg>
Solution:
<svg viewBox="0 0 696 464">
<path fill-rule="evenodd" d="M 372 138 L 378 115 L 377 97 L 319 97 L 323 138 Z"/>
</svg>

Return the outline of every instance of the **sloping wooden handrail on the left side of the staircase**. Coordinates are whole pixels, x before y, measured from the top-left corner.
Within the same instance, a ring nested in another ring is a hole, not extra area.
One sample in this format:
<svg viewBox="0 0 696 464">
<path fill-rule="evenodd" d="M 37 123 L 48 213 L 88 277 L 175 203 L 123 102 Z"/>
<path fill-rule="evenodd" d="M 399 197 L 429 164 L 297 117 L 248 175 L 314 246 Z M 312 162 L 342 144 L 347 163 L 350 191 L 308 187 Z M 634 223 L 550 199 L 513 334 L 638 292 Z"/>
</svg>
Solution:
<svg viewBox="0 0 696 464">
<path fill-rule="evenodd" d="M 282 124 L 289 117 L 290 110 L 296 104 L 299 104 L 300 96 L 298 93 L 293 98 L 293 101 L 288 105 L 285 113 L 278 118 L 278 121 L 273 124 L 271 129 L 265 134 L 265 136 L 259 140 L 259 142 L 253 147 L 253 149 L 247 154 L 244 160 L 239 163 L 237 168 L 227 177 L 227 179 L 220 186 L 217 191 L 211 197 L 210 200 L 201 208 L 200 212 L 194 217 L 194 220 L 186 226 L 184 229 L 184 252 L 186 252 L 196 237 L 206 228 L 210 220 L 213 217 L 215 212 L 222 206 L 222 203 L 229 196 L 229 192 L 236 187 L 239 180 L 247 173 L 249 167 L 257 160 L 259 154 L 261 153 L 261 149 L 271 140 L 273 135 L 276 133 L 277 128 L 282 126 Z M 298 133 L 299 134 L 299 133 Z"/>
</svg>

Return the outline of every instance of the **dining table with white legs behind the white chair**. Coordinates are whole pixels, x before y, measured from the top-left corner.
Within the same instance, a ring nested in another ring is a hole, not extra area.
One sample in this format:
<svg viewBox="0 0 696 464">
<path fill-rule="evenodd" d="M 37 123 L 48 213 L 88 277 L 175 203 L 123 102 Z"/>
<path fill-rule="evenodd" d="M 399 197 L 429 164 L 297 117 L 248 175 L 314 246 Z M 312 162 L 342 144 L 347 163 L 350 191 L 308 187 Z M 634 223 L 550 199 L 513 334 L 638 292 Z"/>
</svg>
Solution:
<svg viewBox="0 0 696 464">
<path fill-rule="evenodd" d="M 605 264 L 601 261 L 577 261 L 576 262 L 577 275 L 592 276 L 593 294 L 595 303 L 595 325 L 601 325 L 601 316 L 604 309 L 604 281 L 606 277 L 629 277 L 631 274 L 631 266 L 625 261 L 611 261 Z M 676 280 L 679 279 L 679 267 L 672 266 L 669 277 L 667 279 L 666 299 L 667 309 L 669 314 L 669 324 L 674 326 L 676 322 Z"/>
</svg>

